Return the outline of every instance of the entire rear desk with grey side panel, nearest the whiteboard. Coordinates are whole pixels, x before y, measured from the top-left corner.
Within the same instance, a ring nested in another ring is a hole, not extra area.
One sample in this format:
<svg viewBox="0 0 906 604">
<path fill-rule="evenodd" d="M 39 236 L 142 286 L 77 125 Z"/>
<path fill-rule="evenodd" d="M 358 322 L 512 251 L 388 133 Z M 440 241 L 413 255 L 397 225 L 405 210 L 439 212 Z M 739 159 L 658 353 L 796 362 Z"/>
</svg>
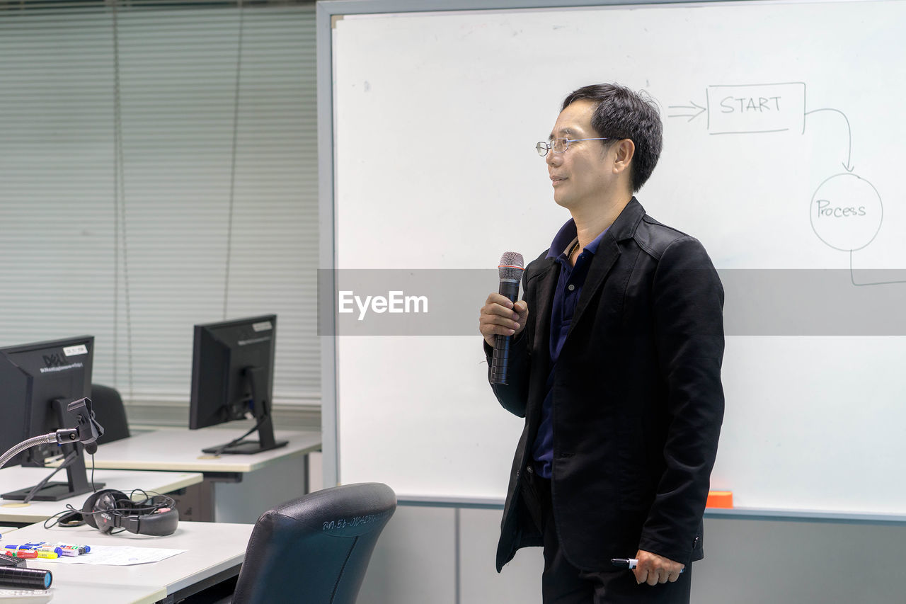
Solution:
<svg viewBox="0 0 906 604">
<path fill-rule="evenodd" d="M 308 492 L 307 455 L 321 449 L 319 431 L 276 430 L 284 447 L 253 455 L 215 457 L 201 450 L 226 443 L 247 428 L 161 428 L 101 444 L 95 467 L 202 472 L 195 520 L 255 522 L 262 512 Z M 184 510 L 180 502 L 180 510 Z"/>
</svg>

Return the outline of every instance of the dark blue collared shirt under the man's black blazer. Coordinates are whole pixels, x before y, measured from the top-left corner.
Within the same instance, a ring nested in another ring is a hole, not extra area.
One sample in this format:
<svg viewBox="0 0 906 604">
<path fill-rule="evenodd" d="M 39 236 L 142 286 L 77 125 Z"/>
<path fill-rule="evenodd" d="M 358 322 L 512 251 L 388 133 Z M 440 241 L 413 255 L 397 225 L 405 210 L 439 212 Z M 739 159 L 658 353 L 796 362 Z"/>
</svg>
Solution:
<svg viewBox="0 0 906 604">
<path fill-rule="evenodd" d="M 601 244 L 601 239 L 607 229 L 589 243 L 575 260 L 575 266 L 570 266 L 569 254 L 576 242 L 575 222 L 570 219 L 557 232 L 551 248 L 547 251 L 547 258 L 554 258 L 560 265 L 560 277 L 557 279 L 557 288 L 554 291 L 554 302 L 551 307 L 551 372 L 547 375 L 547 395 L 541 406 L 541 424 L 532 443 L 532 457 L 535 460 L 535 472 L 545 478 L 551 477 L 551 468 L 554 463 L 554 423 L 552 420 L 554 405 L 554 376 L 557 371 L 557 359 L 563 350 L 566 334 L 573 323 L 573 313 L 576 303 L 582 294 L 588 268 L 592 264 L 594 253 Z M 535 312 L 540 312 L 536 310 Z"/>
</svg>

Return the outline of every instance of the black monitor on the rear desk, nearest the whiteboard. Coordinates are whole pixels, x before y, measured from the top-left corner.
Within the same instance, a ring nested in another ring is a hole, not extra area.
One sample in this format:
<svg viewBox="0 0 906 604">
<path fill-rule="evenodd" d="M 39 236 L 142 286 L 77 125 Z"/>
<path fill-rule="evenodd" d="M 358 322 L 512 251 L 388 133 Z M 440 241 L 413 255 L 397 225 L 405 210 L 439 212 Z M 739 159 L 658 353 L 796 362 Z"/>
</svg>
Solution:
<svg viewBox="0 0 906 604">
<path fill-rule="evenodd" d="M 260 453 L 286 444 L 275 441 L 271 417 L 276 328 L 276 315 L 195 326 L 189 429 L 255 418 L 245 435 L 204 453 Z M 246 440 L 255 430 L 258 440 Z"/>
</svg>

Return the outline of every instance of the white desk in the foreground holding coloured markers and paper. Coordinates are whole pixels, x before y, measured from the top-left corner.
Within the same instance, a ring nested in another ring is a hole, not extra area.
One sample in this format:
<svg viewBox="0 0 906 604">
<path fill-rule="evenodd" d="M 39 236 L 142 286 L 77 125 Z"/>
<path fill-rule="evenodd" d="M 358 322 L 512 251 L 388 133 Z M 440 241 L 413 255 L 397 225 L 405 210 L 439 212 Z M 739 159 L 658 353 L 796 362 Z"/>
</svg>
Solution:
<svg viewBox="0 0 906 604">
<path fill-rule="evenodd" d="M 53 602 L 146 604 L 178 601 L 210 585 L 235 577 L 246 555 L 252 524 L 179 522 L 172 535 L 150 537 L 120 532 L 105 535 L 87 526 L 44 529 L 33 524 L 15 531 L 19 541 L 63 541 L 84 545 L 187 550 L 167 560 L 135 566 L 59 564 L 28 560 L 28 567 L 53 572 Z M 91 554 L 87 554 L 91 555 Z"/>
</svg>

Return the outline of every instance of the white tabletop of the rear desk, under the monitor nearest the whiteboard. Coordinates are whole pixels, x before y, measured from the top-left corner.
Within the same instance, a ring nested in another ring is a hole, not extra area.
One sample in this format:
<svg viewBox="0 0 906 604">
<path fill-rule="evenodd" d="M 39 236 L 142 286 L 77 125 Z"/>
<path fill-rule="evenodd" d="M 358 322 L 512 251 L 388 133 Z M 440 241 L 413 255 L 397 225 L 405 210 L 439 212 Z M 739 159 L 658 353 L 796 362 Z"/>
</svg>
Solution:
<svg viewBox="0 0 906 604">
<path fill-rule="evenodd" d="M 246 432 L 246 428 L 219 429 L 162 428 L 101 444 L 94 455 L 98 468 L 117 470 L 158 470 L 177 472 L 254 472 L 269 463 L 321 448 L 318 431 L 275 431 L 277 440 L 289 441 L 279 449 L 252 455 L 201 453 L 206 447 L 223 444 Z"/>
</svg>

